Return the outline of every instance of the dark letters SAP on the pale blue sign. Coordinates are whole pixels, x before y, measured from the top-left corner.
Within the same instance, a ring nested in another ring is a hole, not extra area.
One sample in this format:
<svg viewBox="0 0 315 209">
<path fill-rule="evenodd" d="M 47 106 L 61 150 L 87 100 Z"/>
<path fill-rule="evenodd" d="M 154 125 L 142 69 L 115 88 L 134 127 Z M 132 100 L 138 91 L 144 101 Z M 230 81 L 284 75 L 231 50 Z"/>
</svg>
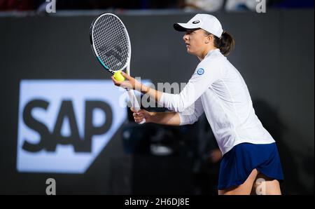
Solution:
<svg viewBox="0 0 315 209">
<path fill-rule="evenodd" d="M 50 103 L 46 100 L 31 100 L 23 110 L 23 121 L 28 128 L 36 131 L 40 135 L 37 143 L 31 143 L 27 138 L 22 144 L 25 151 L 37 152 L 45 149 L 46 151 L 55 151 L 57 144 L 71 144 L 75 152 L 91 152 L 92 137 L 94 135 L 102 135 L 111 127 L 113 113 L 111 106 L 103 101 L 87 100 L 85 101 L 85 125 L 84 137 L 81 138 L 78 133 L 78 125 L 76 116 L 73 111 L 73 102 L 71 100 L 62 100 L 57 120 L 52 133 L 45 126 L 45 123 L 38 121 L 31 115 L 33 109 L 42 109 L 47 111 Z M 94 126 L 93 111 L 99 109 L 106 114 L 106 120 L 101 126 Z M 69 135 L 62 134 L 62 125 L 67 120 L 69 124 Z"/>
</svg>

